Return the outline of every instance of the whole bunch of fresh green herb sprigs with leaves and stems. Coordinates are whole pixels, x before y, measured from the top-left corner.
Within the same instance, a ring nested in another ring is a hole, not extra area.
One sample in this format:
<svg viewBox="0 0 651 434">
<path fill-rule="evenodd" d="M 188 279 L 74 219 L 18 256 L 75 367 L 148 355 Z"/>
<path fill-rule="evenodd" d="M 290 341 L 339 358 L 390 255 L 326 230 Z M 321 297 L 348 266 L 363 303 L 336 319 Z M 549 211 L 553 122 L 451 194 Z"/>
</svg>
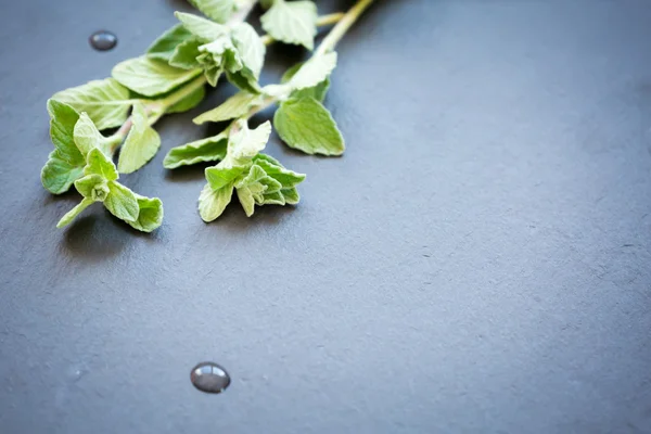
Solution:
<svg viewBox="0 0 651 434">
<path fill-rule="evenodd" d="M 251 117 L 278 106 L 273 126 L 291 148 L 307 154 L 341 155 L 345 143 L 323 100 L 336 66 L 335 47 L 373 0 L 358 0 L 346 13 L 318 16 L 314 1 L 259 0 L 267 35 L 246 23 L 258 0 L 191 0 L 205 17 L 176 12 L 179 24 L 159 36 L 142 56 L 118 63 L 112 76 L 55 93 L 48 101 L 54 151 L 41 170 L 43 187 L 61 194 L 72 186 L 81 202 L 60 220 L 68 225 L 94 202 L 131 227 L 151 232 L 163 221 L 163 204 L 118 182 L 118 174 L 144 166 L 161 148 L 153 125 L 166 114 L 195 107 L 206 85 L 220 77 L 240 89 L 193 122 L 229 122 L 214 137 L 173 148 L 164 166 L 174 169 L 218 162 L 205 169 L 199 197 L 205 221 L 218 218 L 237 194 L 247 216 L 255 206 L 294 205 L 305 175 L 261 153 L 271 123 L 250 128 Z M 335 24 L 336 23 L 336 24 Z M 310 59 L 291 67 L 281 82 L 260 86 L 266 46 L 279 41 L 314 49 L 319 26 L 335 24 Z M 101 131 L 112 130 L 104 136 Z M 119 150 L 117 165 L 113 163 Z"/>
</svg>

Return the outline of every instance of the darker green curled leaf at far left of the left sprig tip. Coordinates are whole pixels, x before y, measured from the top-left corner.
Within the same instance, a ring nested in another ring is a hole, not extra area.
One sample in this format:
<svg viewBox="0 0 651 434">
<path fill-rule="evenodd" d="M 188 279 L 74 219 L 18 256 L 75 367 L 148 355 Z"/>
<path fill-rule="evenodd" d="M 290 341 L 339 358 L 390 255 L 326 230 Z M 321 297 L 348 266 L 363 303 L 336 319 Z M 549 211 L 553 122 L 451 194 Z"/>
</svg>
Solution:
<svg viewBox="0 0 651 434">
<path fill-rule="evenodd" d="M 67 191 L 84 171 L 86 161 L 74 141 L 77 112 L 56 100 L 48 101 L 50 113 L 50 138 L 54 144 L 48 162 L 41 169 L 41 183 L 49 192 L 61 194 Z"/>
</svg>

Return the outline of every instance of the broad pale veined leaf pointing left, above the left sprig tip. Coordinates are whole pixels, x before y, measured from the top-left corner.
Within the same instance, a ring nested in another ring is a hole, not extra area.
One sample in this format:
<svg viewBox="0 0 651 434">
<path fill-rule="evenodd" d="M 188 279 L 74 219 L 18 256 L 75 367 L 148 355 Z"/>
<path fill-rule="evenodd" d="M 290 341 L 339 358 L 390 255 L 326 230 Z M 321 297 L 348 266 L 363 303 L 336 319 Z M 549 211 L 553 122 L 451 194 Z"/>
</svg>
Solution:
<svg viewBox="0 0 651 434">
<path fill-rule="evenodd" d="M 78 113 L 88 113 L 100 130 L 120 126 L 133 103 L 129 89 L 113 78 L 62 90 L 54 93 L 52 99 L 71 105 Z"/>
</svg>

